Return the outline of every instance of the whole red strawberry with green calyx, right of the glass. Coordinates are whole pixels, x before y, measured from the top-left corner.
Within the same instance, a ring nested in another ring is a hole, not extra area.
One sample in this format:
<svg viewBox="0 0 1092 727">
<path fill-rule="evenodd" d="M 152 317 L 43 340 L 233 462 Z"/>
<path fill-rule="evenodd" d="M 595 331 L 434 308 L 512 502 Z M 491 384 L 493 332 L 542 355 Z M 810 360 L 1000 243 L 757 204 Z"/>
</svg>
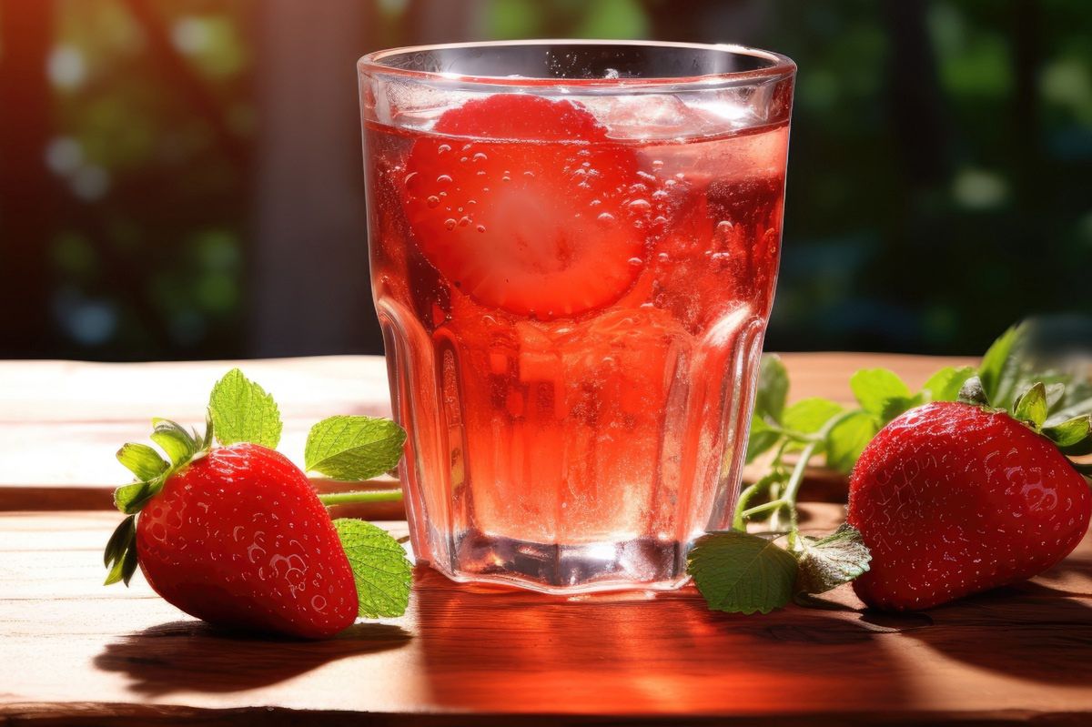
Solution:
<svg viewBox="0 0 1092 727">
<path fill-rule="evenodd" d="M 1089 486 L 1064 451 L 1089 449 L 1089 417 L 1043 428 L 1042 384 L 1012 416 L 978 401 L 912 409 L 857 461 L 848 522 L 871 563 L 854 589 L 869 606 L 928 608 L 1031 577 L 1088 529 Z"/>
</svg>

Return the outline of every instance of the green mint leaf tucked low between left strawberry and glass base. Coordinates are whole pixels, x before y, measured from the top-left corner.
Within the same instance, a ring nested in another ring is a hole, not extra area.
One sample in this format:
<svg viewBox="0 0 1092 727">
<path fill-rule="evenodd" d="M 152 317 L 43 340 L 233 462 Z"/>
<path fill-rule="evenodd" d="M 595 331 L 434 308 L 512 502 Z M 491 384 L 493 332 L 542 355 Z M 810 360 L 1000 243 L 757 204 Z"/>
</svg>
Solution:
<svg viewBox="0 0 1092 727">
<path fill-rule="evenodd" d="M 402 616 L 410 603 L 413 564 L 399 541 L 363 520 L 341 517 L 334 528 L 353 567 L 359 615 L 372 619 Z"/>
</svg>

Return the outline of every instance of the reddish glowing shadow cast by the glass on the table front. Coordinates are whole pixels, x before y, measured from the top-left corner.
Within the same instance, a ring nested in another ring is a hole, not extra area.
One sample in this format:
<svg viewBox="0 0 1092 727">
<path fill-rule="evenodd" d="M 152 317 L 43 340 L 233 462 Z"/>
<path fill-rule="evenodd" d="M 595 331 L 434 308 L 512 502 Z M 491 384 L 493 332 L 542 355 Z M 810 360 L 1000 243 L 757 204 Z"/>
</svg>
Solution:
<svg viewBox="0 0 1092 727">
<path fill-rule="evenodd" d="M 551 714 L 879 713 L 910 703 L 891 628 L 852 610 L 710 611 L 692 588 L 565 599 L 415 574 L 431 700 Z M 894 636 L 898 639 L 898 635 Z"/>
</svg>

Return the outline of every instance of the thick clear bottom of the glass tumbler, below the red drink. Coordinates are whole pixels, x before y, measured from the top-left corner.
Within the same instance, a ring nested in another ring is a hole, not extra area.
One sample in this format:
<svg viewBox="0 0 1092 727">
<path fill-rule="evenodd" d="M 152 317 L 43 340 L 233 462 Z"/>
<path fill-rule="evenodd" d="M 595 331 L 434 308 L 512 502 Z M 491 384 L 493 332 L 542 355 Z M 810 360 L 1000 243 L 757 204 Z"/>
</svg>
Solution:
<svg viewBox="0 0 1092 727">
<path fill-rule="evenodd" d="M 470 531 L 455 537 L 453 568 L 431 565 L 460 583 L 495 583 L 539 593 L 673 591 L 689 582 L 688 543 L 638 538 L 621 543 L 529 543 Z"/>
</svg>

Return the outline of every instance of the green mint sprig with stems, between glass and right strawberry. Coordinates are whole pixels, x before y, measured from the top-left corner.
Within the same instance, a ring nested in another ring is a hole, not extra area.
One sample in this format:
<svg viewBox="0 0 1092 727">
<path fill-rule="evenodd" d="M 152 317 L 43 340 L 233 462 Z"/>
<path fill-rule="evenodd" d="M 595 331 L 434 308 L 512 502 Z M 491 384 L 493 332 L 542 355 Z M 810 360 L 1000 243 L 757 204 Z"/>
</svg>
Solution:
<svg viewBox="0 0 1092 727">
<path fill-rule="evenodd" d="M 1069 456 L 1092 454 L 1092 398 L 1087 388 L 1066 388 L 1065 374 L 1043 371 L 1026 353 L 1023 325 L 1006 331 L 977 369 L 945 367 L 912 392 L 894 372 L 863 369 L 850 379 L 857 408 L 821 397 L 786 406 L 788 377 L 774 355 L 764 355 L 755 396 L 747 462 L 765 472 L 739 493 L 732 529 L 696 541 L 688 572 L 710 608 L 768 612 L 796 595 L 802 603 L 847 583 L 868 570 L 870 555 L 860 534 L 843 525 L 824 538 L 803 536 L 797 499 L 804 474 L 817 456 L 850 473 L 876 433 L 904 412 L 928 402 L 964 401 L 999 406 L 1052 439 Z M 1073 391 L 1078 391 L 1075 396 Z M 795 462 L 790 456 L 796 454 Z M 1092 475 L 1092 464 L 1073 463 Z M 762 524 L 768 537 L 748 534 Z M 784 543 L 784 546 L 778 545 Z M 787 568 L 785 559 L 794 562 Z M 760 567 L 761 565 L 761 567 Z M 776 567 L 774 567 L 776 565 Z M 786 585 L 787 584 L 787 585 Z"/>
</svg>

